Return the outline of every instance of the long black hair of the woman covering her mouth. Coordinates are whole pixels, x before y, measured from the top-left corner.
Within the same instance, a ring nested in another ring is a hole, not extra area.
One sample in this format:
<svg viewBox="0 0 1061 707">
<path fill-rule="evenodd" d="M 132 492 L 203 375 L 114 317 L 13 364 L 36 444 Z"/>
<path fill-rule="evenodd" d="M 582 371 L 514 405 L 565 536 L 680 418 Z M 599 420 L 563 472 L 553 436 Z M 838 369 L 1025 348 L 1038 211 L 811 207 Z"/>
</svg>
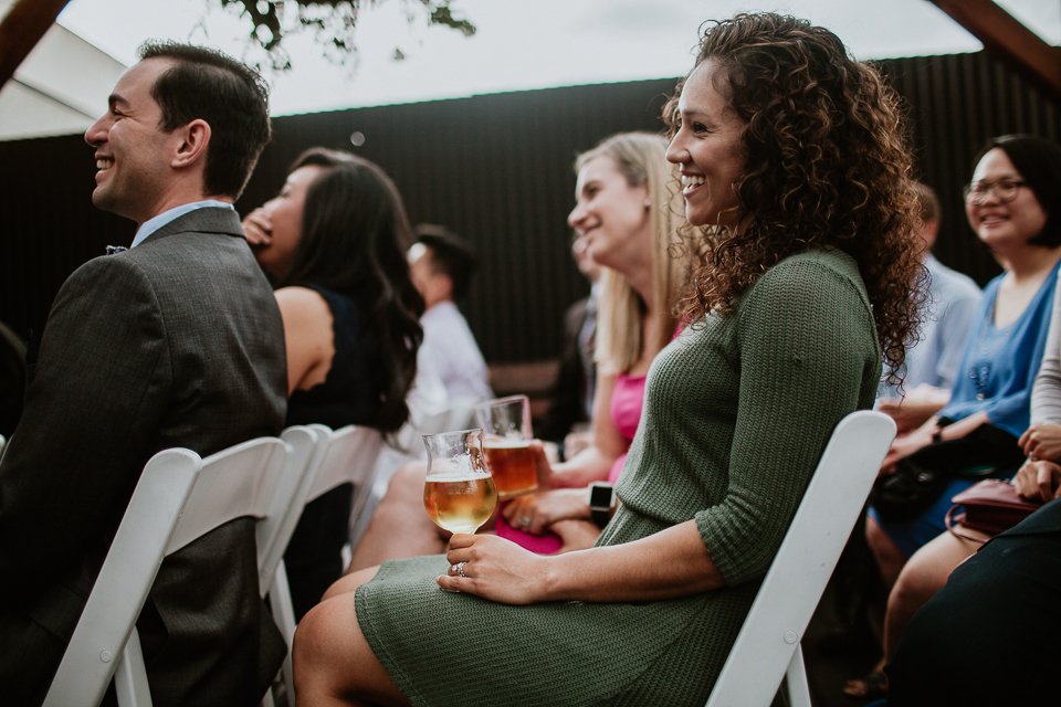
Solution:
<svg viewBox="0 0 1061 707">
<path fill-rule="evenodd" d="M 277 287 L 318 285 L 357 303 L 371 333 L 377 405 L 369 424 L 397 432 L 409 419 L 406 397 L 423 340 L 423 298 L 409 276 L 411 229 L 401 194 L 379 166 L 355 155 L 314 148 L 291 171 L 307 166 L 324 171 L 306 190 L 302 239 Z"/>
</svg>

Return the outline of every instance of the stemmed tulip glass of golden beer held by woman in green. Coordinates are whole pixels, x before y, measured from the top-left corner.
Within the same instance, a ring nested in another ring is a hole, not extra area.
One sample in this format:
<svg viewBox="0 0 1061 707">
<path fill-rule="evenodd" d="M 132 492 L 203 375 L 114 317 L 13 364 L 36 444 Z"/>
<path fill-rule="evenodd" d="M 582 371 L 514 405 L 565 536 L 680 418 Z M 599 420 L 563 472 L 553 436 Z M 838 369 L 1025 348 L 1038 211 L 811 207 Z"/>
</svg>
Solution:
<svg viewBox="0 0 1061 707">
<path fill-rule="evenodd" d="M 497 503 L 494 481 L 483 460 L 483 431 L 426 434 L 423 445 L 428 449 L 423 484 L 428 515 L 450 532 L 475 532 Z"/>
</svg>

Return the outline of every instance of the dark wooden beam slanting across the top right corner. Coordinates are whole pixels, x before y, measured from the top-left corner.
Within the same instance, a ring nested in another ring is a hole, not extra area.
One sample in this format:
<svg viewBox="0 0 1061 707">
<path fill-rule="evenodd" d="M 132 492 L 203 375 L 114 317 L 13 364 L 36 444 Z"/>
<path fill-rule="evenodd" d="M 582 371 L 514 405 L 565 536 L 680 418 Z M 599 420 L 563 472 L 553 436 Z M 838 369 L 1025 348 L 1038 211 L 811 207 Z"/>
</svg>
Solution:
<svg viewBox="0 0 1061 707">
<path fill-rule="evenodd" d="M 1061 48 L 1042 38 L 992 0 L 932 0 L 984 48 L 1061 104 Z"/>
</svg>

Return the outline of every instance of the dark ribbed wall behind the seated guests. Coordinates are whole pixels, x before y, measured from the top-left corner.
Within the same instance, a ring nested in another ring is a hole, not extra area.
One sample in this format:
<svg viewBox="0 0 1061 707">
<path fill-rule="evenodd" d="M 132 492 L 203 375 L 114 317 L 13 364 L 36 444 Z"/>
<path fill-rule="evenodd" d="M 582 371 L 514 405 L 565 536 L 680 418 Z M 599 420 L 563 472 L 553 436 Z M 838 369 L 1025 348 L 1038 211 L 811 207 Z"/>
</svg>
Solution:
<svg viewBox="0 0 1061 707">
<path fill-rule="evenodd" d="M 960 187 L 990 136 L 1033 133 L 1061 141 L 1059 108 L 986 53 L 882 62 L 907 101 L 924 180 L 944 204 L 937 254 L 984 284 L 998 272 L 965 223 Z M 659 130 L 674 80 L 576 86 L 454 101 L 337 110 L 274 120 L 237 207 L 276 192 L 287 165 L 322 145 L 378 162 L 410 218 L 473 243 L 482 268 L 462 303 L 491 362 L 551 358 L 565 307 L 587 286 L 571 263 L 566 217 L 575 155 L 621 130 Z M 350 143 L 364 135 L 360 147 Z M 43 327 L 55 293 L 132 223 L 90 201 L 95 166 L 80 136 L 0 143 L 0 320 L 25 336 Z"/>
</svg>

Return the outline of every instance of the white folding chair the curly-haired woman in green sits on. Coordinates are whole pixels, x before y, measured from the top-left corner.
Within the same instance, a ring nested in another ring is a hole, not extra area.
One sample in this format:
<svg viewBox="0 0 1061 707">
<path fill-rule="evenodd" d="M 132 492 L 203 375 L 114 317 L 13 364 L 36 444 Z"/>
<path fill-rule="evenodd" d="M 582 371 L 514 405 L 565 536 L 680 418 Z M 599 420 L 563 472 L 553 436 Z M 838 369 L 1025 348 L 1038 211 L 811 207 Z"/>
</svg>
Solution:
<svg viewBox="0 0 1061 707">
<path fill-rule="evenodd" d="M 837 425 L 707 707 L 769 707 L 782 677 L 791 707 L 811 707 L 799 642 L 894 437 L 880 412 Z"/>
</svg>

